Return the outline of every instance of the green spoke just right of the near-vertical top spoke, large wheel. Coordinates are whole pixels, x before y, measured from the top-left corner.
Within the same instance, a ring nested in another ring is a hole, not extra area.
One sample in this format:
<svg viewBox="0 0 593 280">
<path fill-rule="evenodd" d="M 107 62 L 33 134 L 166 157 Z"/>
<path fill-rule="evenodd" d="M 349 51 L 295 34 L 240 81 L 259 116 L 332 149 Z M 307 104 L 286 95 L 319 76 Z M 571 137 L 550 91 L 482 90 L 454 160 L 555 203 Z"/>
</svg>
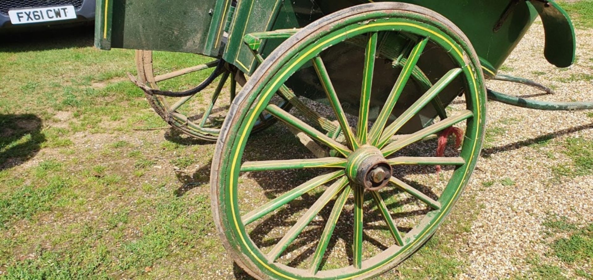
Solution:
<svg viewBox="0 0 593 280">
<path fill-rule="evenodd" d="M 391 115 L 391 111 L 393 111 L 393 108 L 396 106 L 397 99 L 400 98 L 401 92 L 406 86 L 407 81 L 410 79 L 412 70 L 416 66 L 416 63 L 418 62 L 424 47 L 426 47 L 426 43 L 428 43 L 428 38 L 425 38 L 416 44 L 406 61 L 406 65 L 404 65 L 403 69 L 401 69 L 401 73 L 397 78 L 396 84 L 393 86 L 393 89 L 391 89 L 391 93 L 387 97 L 385 105 L 381 109 L 377 120 L 372 125 L 371 132 L 369 133 L 371 144 L 377 144 L 379 141 L 379 137 L 381 136 L 381 132 L 383 131 L 389 116 Z"/>
</svg>

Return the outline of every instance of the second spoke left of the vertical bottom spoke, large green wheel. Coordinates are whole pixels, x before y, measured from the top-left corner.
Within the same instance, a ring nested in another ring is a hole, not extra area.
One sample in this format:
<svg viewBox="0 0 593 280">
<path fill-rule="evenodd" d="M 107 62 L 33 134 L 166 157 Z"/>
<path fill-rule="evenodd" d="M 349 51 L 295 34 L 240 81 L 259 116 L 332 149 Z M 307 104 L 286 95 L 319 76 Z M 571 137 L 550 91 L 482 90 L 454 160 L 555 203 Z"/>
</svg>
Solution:
<svg viewBox="0 0 593 280">
<path fill-rule="evenodd" d="M 331 184 L 326 191 L 323 192 L 321 197 L 315 201 L 313 205 L 305 212 L 304 215 L 297 221 L 294 226 L 280 239 L 278 244 L 272 248 L 272 250 L 267 254 L 267 259 L 270 262 L 275 261 L 278 259 L 282 252 L 286 250 L 286 247 L 294 241 L 299 234 L 301 234 L 302 230 L 307 227 L 307 225 L 315 218 L 315 216 L 321 211 L 321 209 L 331 200 L 331 198 L 335 197 L 342 189 L 348 184 L 348 178 L 343 176 L 342 178 L 338 179 L 334 184 Z"/>
</svg>

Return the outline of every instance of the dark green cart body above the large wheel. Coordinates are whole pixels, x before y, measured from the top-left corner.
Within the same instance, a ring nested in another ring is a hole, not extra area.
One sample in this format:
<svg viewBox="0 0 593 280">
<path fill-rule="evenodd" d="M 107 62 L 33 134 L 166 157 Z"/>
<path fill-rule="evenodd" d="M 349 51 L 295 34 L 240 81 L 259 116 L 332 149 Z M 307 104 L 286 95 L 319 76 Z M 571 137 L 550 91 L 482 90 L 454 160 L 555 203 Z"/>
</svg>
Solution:
<svg viewBox="0 0 593 280">
<path fill-rule="evenodd" d="M 311 22 L 362 4 L 361 0 L 100 0 L 95 44 L 124 48 L 189 52 L 222 57 L 247 74 L 257 60 L 243 37 L 249 33 L 302 28 Z M 575 34 L 566 12 L 553 1 L 404 0 L 429 8 L 454 22 L 470 39 L 486 76 L 494 76 L 538 14 L 546 30 L 546 58 L 567 67 L 575 56 Z M 279 40 L 260 46 L 275 49 Z M 389 46 L 397 48 L 398 46 Z"/>
</svg>

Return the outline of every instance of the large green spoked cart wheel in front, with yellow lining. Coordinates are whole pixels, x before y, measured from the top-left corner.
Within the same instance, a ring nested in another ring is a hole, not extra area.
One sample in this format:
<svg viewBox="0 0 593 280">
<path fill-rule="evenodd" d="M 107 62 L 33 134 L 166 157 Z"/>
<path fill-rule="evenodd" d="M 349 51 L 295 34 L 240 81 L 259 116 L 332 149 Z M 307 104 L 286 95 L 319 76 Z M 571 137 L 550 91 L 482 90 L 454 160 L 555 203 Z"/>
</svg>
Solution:
<svg viewBox="0 0 593 280">
<path fill-rule="evenodd" d="M 406 63 L 381 95 L 373 85 L 381 81 L 373 75 L 382 61 L 378 42 L 385 34 L 406 38 L 412 47 L 400 48 Z M 352 100 L 352 95 L 336 91 L 333 81 L 340 76 L 330 74 L 326 65 L 331 62 L 324 57 L 361 37 L 365 59 Z M 416 79 L 410 78 L 415 66 L 429 73 L 433 85 L 428 91 L 408 90 L 415 89 Z M 315 69 L 327 104 L 311 108 L 333 115 L 340 136 L 307 123 L 298 111 L 291 114 L 269 103 L 280 86 L 307 67 Z M 216 147 L 212 207 L 228 252 L 251 275 L 276 279 L 369 278 L 410 256 L 447 217 L 479 157 L 486 110 L 479 69 L 471 44 L 457 27 L 410 4 L 347 8 L 289 38 L 233 102 Z M 453 97 L 443 98 L 446 104 L 460 92 L 463 97 L 455 99 L 445 116 L 426 111 L 436 96 L 449 96 L 447 92 Z M 374 95 L 384 96 L 381 105 L 374 104 Z M 358 104 L 358 113 L 349 113 L 345 104 L 350 111 Z M 324 147 L 326 156 L 315 158 L 298 141 L 276 137 L 285 134 L 284 127 L 274 127 L 266 137 L 250 136 L 262 112 Z M 426 112 L 433 114 L 424 116 L 429 121 L 403 132 L 410 120 Z M 427 151 L 436 149 L 433 135 L 449 127 L 463 131 L 461 148 L 431 156 Z M 426 166 L 435 165 L 446 166 L 444 179 L 427 174 L 434 169 Z"/>
</svg>

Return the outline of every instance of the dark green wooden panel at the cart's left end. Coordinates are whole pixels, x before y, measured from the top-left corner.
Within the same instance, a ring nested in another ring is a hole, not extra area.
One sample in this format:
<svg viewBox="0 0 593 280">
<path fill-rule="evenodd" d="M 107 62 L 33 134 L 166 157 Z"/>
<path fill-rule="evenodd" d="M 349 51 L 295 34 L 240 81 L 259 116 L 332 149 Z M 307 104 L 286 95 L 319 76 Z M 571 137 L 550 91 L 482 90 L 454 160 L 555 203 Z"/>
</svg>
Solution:
<svg viewBox="0 0 593 280">
<path fill-rule="evenodd" d="M 212 36 L 222 31 L 210 37 L 209 32 L 224 25 L 222 15 L 227 1 L 230 0 L 100 0 L 97 28 L 103 28 L 103 36 L 98 30 L 95 41 L 103 49 L 168 50 L 212 56 L 218 53 L 213 49 Z"/>
</svg>

